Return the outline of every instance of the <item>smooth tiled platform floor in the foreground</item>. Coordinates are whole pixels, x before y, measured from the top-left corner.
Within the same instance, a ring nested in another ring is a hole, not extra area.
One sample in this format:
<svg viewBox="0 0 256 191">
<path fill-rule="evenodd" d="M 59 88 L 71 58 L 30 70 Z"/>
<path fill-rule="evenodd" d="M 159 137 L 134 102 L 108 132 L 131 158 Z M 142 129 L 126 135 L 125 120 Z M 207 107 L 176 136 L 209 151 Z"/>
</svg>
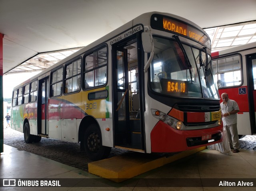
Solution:
<svg viewBox="0 0 256 191">
<path fill-rule="evenodd" d="M 206 149 L 143 173 L 134 179 L 114 183 L 74 167 L 4 145 L 4 152 L 0 157 L 0 185 L 4 184 L 3 179 L 18 181 L 25 178 L 26 180 L 60 179 L 62 180 L 60 184 L 67 187 L 0 187 L 0 191 L 254 191 L 256 151 L 240 150 L 239 153 L 229 156 L 216 150 Z M 69 185 L 70 180 L 74 181 Z M 236 187 L 222 186 L 226 181 L 234 182 Z M 239 187 L 238 181 L 240 183 L 249 181 L 253 186 Z"/>
</svg>

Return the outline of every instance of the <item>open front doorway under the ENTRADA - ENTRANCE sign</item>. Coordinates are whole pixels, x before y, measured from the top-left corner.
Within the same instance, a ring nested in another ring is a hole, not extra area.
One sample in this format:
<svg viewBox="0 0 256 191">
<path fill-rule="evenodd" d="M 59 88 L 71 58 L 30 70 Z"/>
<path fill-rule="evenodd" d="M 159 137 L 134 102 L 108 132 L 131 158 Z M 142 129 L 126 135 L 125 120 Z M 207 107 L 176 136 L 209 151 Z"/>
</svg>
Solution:
<svg viewBox="0 0 256 191">
<path fill-rule="evenodd" d="M 127 42 L 129 43 L 129 42 Z M 114 146 L 144 152 L 140 118 L 138 59 L 136 42 L 133 53 L 127 44 L 113 46 Z M 133 59 L 129 57 L 133 55 Z M 135 55 L 135 56 L 134 56 Z"/>
</svg>

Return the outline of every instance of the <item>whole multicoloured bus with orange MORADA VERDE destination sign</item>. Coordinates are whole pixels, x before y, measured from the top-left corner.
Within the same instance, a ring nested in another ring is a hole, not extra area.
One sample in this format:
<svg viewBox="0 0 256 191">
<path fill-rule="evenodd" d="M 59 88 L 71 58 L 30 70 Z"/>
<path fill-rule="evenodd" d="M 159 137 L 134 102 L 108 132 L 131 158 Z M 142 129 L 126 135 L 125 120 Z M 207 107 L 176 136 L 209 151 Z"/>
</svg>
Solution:
<svg viewBox="0 0 256 191">
<path fill-rule="evenodd" d="M 111 148 L 168 153 L 218 143 L 211 63 L 199 26 L 145 13 L 15 87 L 12 128 L 26 143 L 80 143 L 91 160 Z"/>
</svg>

